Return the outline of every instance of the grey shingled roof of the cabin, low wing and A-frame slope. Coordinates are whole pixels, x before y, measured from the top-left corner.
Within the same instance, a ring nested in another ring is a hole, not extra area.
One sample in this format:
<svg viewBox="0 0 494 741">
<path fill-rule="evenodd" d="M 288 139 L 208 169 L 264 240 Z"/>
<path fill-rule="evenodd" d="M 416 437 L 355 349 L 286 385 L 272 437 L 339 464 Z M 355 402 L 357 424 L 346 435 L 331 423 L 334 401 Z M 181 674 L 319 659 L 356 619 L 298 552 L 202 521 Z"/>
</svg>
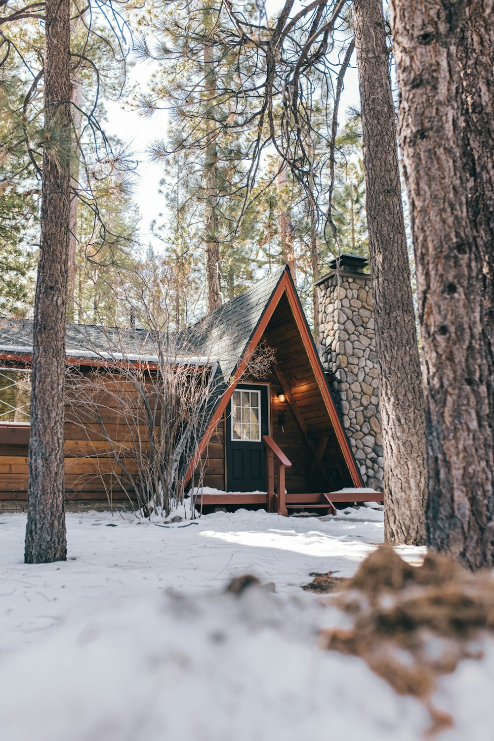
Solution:
<svg viewBox="0 0 494 741">
<path fill-rule="evenodd" d="M 177 350 L 184 359 L 218 362 L 224 382 L 233 375 L 270 302 L 281 276 L 279 268 L 264 279 L 179 333 Z M 67 324 L 67 358 L 101 359 L 126 353 L 129 359 L 150 359 L 156 338 L 145 329 Z M 33 353 L 33 320 L 0 318 L 0 354 Z"/>
</svg>

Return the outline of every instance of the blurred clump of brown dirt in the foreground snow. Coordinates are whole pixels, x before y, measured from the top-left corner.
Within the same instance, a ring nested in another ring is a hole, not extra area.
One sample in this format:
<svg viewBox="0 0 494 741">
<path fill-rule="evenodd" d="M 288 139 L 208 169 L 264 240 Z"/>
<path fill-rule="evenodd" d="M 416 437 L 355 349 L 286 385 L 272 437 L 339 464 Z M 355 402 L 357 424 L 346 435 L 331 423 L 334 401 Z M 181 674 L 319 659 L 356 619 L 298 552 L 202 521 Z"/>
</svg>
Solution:
<svg viewBox="0 0 494 741">
<path fill-rule="evenodd" d="M 323 631 L 324 648 L 365 659 L 398 693 L 426 702 L 433 717 L 429 734 L 451 725 L 430 697 L 441 674 L 461 659 L 482 657 L 475 642 L 494 631 L 493 577 L 438 555 L 412 566 L 383 545 L 336 600 L 353 627 Z"/>
</svg>

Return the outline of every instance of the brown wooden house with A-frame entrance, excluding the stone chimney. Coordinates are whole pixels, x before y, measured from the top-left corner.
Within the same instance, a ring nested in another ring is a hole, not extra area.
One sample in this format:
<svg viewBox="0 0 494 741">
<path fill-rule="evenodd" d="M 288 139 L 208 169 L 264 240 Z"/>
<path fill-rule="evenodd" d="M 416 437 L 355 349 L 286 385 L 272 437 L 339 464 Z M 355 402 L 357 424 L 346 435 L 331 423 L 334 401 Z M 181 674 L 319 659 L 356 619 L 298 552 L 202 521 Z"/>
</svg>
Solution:
<svg viewBox="0 0 494 741">
<path fill-rule="evenodd" d="M 130 330 L 135 332 L 136 344 L 142 331 Z M 9 384 L 15 386 L 10 379 L 29 371 L 31 338 L 32 322 L 1 320 L 0 381 L 7 379 L 3 392 L 0 386 L 0 499 L 4 500 L 27 498 L 28 400 L 8 401 L 6 392 Z M 67 364 L 77 365 L 90 377 L 102 365 L 107 342 L 108 330 L 67 325 Z M 244 367 L 259 342 L 273 348 L 276 361 L 264 377 L 253 380 L 244 375 Z M 97 353 L 88 350 L 95 345 Z M 261 280 L 202 322 L 196 354 L 214 358 L 218 373 L 216 396 L 196 451 L 196 463 L 205 462 L 205 491 L 196 492 L 198 504 L 259 505 L 286 514 L 290 508 L 324 510 L 332 507 L 331 502 L 381 500 L 381 494 L 365 490 L 340 491 L 364 484 L 287 268 Z M 17 410 L 15 419 L 13 410 Z M 1 422 L 2 418 L 8 421 Z M 116 439 L 124 435 L 119 419 L 109 419 L 108 425 Z M 91 456 L 89 448 L 94 451 Z M 105 456 L 107 446 L 94 426 L 81 428 L 68 415 L 67 499 L 106 501 L 108 485 L 101 483 Z M 126 499 L 115 471 L 108 476 L 114 477 L 113 502 Z M 193 485 L 192 467 L 189 479 Z"/>
</svg>

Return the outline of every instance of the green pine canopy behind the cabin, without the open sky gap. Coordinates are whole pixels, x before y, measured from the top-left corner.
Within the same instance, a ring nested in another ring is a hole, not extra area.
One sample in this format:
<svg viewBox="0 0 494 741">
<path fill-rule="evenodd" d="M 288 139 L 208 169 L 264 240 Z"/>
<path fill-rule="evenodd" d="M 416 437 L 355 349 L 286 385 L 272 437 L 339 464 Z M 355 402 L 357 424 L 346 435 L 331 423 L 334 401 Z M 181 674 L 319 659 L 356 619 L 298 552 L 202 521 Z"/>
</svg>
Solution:
<svg viewBox="0 0 494 741">
<path fill-rule="evenodd" d="M 262 16 L 249 4 L 242 10 L 253 25 Z M 338 56 L 349 33 L 342 33 L 341 41 L 333 44 L 328 59 L 334 59 L 327 69 L 311 73 L 306 80 L 304 95 L 310 98 L 314 134 L 307 133 L 305 149 L 309 147 L 314 163 L 318 161 L 313 165 L 310 196 L 300 178 L 283 166 L 284 105 L 279 91 L 271 123 L 259 122 L 261 96 L 253 92 L 253 82 L 261 79 L 263 62 L 258 50 L 249 51 L 252 44 L 238 38 L 233 16 L 220 4 L 198 1 L 153 2 L 141 10 L 122 3 L 119 12 L 121 19 L 113 27 L 101 12 L 92 21 L 92 33 L 84 17 L 73 21 L 71 29 L 74 58 L 84 47 L 85 59 L 79 66 L 74 64 L 72 73 L 73 94 L 78 82 L 82 104 L 79 121 L 74 122 L 81 139 L 79 153 L 73 155 L 79 162 L 79 199 L 68 318 L 130 322 L 128 312 L 124 316 L 119 310 L 116 316 L 114 302 L 127 293 L 138 266 L 148 275 L 154 273 L 155 284 L 166 293 L 170 319 L 179 327 L 204 313 L 207 282 L 216 286 L 218 303 L 284 262 L 295 268 L 301 295 L 313 313 L 313 278 L 327 268 L 332 250 L 367 250 L 358 118 L 338 130 L 329 230 L 324 216 L 331 178 L 327 142 L 333 133 L 328 116 L 333 111 Z M 268 21 L 264 33 L 275 22 Z M 39 139 L 42 124 L 43 79 L 42 75 L 36 79 L 36 73 L 44 41 L 37 16 L 32 21 L 22 16 L 2 27 L 8 30 L 4 48 L 9 47 L 9 54 L 1 67 L 6 116 L 1 131 L 0 208 L 10 214 L 10 221 L 16 215 L 16 224 L 11 227 L 9 220 L 2 219 L 6 228 L 0 235 L 0 259 L 5 278 L 0 285 L 0 310 L 30 316 L 40 205 L 40 165 L 31 142 L 36 136 Z M 104 43 L 99 44 L 99 39 Z M 293 43 L 290 37 L 291 53 Z M 132 80 L 142 78 L 149 58 L 154 60 L 153 73 L 145 86 L 138 86 L 144 93 L 136 93 Z M 122 73 L 122 60 L 134 66 L 128 78 Z M 153 223 L 153 247 L 139 244 L 133 192 L 139 167 L 122 142 L 105 139 L 104 129 L 111 130 L 111 119 L 101 127 L 104 101 L 120 95 L 127 106 L 137 104 L 144 116 L 166 109 L 170 122 L 166 137 L 142 145 L 163 167 L 157 196 L 163 215 L 157 214 Z M 24 110 L 31 131 L 19 122 Z M 341 116 L 344 120 L 344 112 Z M 260 132 L 261 147 L 256 143 Z M 284 176 L 280 176 L 282 167 Z M 12 205 L 16 198 L 17 214 Z M 184 285 L 193 291 L 184 291 Z"/>
</svg>

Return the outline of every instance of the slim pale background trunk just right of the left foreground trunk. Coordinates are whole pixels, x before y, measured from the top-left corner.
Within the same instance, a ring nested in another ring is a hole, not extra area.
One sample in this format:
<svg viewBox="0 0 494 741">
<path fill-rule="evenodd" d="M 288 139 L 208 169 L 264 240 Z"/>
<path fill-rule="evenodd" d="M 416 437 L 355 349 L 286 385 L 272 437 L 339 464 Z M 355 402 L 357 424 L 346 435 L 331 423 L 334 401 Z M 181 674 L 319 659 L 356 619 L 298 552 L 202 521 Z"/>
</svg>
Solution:
<svg viewBox="0 0 494 741">
<path fill-rule="evenodd" d="M 79 137 L 81 136 L 81 107 L 82 107 L 82 83 L 76 77 L 71 82 L 72 122 L 75 142 L 75 151 L 72 161 L 72 177 L 70 192 L 70 235 L 69 235 L 69 273 L 67 282 L 67 320 L 73 322 L 75 319 L 76 305 L 76 245 L 77 245 L 77 209 L 79 205 L 79 151 L 77 150 Z"/>
</svg>

